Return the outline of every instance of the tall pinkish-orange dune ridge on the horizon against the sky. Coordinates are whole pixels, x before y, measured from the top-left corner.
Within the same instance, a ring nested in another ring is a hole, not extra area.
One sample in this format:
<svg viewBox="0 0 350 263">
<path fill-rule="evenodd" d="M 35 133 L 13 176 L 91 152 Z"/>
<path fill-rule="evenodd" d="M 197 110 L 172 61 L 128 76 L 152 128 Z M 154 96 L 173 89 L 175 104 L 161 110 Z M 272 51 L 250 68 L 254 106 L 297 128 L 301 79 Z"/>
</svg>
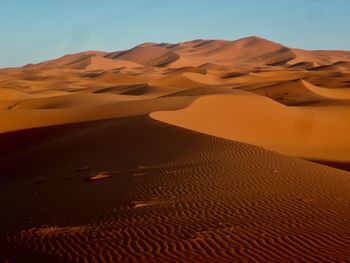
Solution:
<svg viewBox="0 0 350 263">
<path fill-rule="evenodd" d="M 349 61 L 350 53 L 347 51 L 293 49 L 254 36 L 235 41 L 196 40 L 178 44 L 144 43 L 126 51 L 111 53 L 89 51 L 72 54 L 37 65 L 29 65 L 27 68 L 108 70 L 124 66 L 137 67 L 137 65 L 178 68 L 210 63 L 219 65 L 254 64 L 255 66 L 293 66 L 299 63 L 313 63 L 317 67 L 330 66 L 330 64 L 336 66 L 336 63 L 348 63 Z"/>
</svg>

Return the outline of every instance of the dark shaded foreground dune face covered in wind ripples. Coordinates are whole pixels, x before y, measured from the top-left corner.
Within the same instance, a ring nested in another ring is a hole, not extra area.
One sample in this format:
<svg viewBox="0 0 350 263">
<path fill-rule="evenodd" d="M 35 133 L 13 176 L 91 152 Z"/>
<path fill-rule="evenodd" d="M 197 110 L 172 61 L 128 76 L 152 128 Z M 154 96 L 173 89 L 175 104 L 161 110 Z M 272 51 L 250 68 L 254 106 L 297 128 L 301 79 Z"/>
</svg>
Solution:
<svg viewBox="0 0 350 263">
<path fill-rule="evenodd" d="M 49 129 L 0 153 L 1 207 L 16 211 L 0 221 L 3 259 L 349 257 L 346 172 L 148 117 Z"/>
</svg>

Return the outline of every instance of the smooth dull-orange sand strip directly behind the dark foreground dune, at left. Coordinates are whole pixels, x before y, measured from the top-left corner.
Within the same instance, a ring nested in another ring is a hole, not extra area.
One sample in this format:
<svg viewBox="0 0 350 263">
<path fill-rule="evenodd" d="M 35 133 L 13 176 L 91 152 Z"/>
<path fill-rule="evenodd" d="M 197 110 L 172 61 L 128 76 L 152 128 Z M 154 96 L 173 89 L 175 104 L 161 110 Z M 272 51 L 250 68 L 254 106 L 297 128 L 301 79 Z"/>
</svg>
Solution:
<svg viewBox="0 0 350 263">
<path fill-rule="evenodd" d="M 158 110 L 181 109 L 193 100 L 192 97 L 73 94 L 13 101 L 3 105 L 6 110 L 0 109 L 0 134 L 52 125 L 147 115 Z"/>
</svg>

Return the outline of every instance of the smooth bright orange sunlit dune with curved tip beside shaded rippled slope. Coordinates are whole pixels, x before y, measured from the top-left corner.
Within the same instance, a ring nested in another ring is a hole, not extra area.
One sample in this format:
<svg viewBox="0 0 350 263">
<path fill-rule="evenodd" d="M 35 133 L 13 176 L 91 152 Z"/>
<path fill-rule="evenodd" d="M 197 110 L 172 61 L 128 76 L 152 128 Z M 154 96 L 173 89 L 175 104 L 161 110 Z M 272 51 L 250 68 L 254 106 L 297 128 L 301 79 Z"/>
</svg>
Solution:
<svg viewBox="0 0 350 263">
<path fill-rule="evenodd" d="M 189 107 L 153 112 L 153 119 L 306 159 L 350 162 L 348 105 L 286 107 L 237 93 L 197 99 Z"/>
</svg>

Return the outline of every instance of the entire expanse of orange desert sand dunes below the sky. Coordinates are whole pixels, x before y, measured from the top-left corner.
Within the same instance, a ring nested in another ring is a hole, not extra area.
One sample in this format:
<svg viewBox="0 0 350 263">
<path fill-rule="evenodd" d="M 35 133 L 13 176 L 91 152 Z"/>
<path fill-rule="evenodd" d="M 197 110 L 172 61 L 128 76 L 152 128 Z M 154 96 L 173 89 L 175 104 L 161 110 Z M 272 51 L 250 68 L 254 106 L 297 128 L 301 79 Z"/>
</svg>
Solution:
<svg viewBox="0 0 350 263">
<path fill-rule="evenodd" d="M 248 37 L 0 69 L 0 261 L 350 257 L 350 52 Z"/>
</svg>

